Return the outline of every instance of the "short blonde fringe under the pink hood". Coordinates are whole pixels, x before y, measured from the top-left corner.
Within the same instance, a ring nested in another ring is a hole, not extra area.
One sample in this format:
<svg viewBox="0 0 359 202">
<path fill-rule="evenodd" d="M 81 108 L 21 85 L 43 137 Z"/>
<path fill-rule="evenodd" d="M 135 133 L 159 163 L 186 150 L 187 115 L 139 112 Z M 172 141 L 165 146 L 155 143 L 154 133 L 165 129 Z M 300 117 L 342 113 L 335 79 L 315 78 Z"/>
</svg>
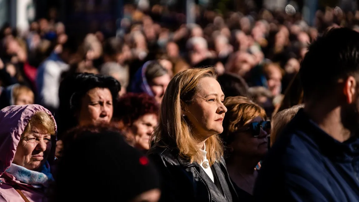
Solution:
<svg viewBox="0 0 359 202">
<path fill-rule="evenodd" d="M 51 117 L 51 114 L 46 112 L 36 112 L 29 120 L 29 123 L 25 126 L 24 132 L 21 136 L 29 133 L 34 126 L 41 126 L 48 133 L 50 133 L 50 135 L 56 135 L 55 120 Z"/>
</svg>

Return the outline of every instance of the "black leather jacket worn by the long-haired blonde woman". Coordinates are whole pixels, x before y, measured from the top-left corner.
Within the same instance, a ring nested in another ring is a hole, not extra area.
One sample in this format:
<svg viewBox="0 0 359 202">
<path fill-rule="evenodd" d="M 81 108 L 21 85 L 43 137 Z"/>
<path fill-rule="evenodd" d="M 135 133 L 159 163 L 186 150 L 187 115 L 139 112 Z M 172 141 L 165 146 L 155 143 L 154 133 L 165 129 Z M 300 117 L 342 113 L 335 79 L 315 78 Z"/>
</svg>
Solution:
<svg viewBox="0 0 359 202">
<path fill-rule="evenodd" d="M 162 177 L 160 202 L 237 202 L 224 159 L 211 166 L 216 184 L 198 163 L 181 158 L 178 151 L 154 147 L 148 153 Z"/>
</svg>

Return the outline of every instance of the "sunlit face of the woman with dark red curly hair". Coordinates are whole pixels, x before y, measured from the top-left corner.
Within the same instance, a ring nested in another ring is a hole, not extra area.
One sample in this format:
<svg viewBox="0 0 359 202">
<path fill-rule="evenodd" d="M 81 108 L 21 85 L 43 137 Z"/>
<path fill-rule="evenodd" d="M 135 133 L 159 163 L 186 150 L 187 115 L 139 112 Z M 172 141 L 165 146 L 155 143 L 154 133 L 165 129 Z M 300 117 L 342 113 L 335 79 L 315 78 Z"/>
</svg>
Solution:
<svg viewBox="0 0 359 202">
<path fill-rule="evenodd" d="M 134 136 L 135 147 L 140 150 L 150 149 L 149 140 L 157 122 L 156 114 L 145 114 L 132 123 L 131 135 Z"/>
</svg>

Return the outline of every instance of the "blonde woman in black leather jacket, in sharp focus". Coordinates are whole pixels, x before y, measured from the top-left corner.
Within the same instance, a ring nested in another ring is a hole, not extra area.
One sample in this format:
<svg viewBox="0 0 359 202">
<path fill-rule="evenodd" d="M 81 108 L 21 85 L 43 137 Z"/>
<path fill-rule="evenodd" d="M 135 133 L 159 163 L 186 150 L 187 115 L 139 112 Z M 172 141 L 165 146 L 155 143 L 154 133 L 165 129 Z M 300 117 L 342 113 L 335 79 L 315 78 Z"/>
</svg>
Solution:
<svg viewBox="0 0 359 202">
<path fill-rule="evenodd" d="M 149 157 L 162 174 L 160 201 L 238 201 L 223 159 L 227 108 L 214 68 L 175 75 L 165 91 Z"/>
</svg>

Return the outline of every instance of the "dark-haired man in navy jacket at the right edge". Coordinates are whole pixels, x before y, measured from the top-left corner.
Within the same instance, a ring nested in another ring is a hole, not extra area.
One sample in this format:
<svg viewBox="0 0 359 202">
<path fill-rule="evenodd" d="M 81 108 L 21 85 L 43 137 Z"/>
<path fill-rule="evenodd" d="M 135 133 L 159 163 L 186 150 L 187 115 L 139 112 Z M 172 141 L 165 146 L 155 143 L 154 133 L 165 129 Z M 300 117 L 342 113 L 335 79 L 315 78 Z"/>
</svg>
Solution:
<svg viewBox="0 0 359 202">
<path fill-rule="evenodd" d="M 264 160 L 256 201 L 359 201 L 359 33 L 318 37 L 299 74 L 305 107 Z"/>
</svg>

